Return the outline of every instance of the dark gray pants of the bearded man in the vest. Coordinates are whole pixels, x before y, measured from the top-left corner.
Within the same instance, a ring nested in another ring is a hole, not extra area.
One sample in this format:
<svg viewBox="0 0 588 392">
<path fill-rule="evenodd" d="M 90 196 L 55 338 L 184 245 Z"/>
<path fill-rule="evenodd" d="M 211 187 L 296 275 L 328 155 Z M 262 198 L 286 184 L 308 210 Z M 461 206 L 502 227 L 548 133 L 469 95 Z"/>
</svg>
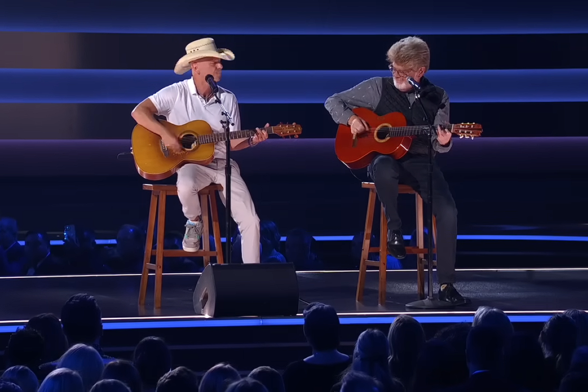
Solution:
<svg viewBox="0 0 588 392">
<path fill-rule="evenodd" d="M 398 216 L 398 184 L 408 185 L 427 203 L 429 157 L 406 155 L 400 160 L 387 155 L 376 156 L 369 166 L 369 175 L 377 196 L 386 208 L 388 230 L 402 226 Z M 457 246 L 457 209 L 439 166 L 433 165 L 433 215 L 437 219 L 437 277 L 439 284 L 455 283 Z M 425 225 L 427 220 L 425 219 Z"/>
</svg>

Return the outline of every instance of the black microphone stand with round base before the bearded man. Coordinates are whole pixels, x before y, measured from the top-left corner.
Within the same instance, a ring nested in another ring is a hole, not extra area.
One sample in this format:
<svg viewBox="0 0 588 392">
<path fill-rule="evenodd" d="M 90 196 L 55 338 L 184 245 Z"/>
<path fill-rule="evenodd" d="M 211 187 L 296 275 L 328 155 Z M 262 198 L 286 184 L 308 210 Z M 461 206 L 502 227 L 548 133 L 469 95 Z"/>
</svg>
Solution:
<svg viewBox="0 0 588 392">
<path fill-rule="evenodd" d="M 410 82 L 410 81 L 409 81 Z M 422 88 L 420 88 L 418 83 L 410 82 L 410 85 L 413 86 L 415 89 L 415 99 L 419 101 L 420 108 L 425 113 L 425 120 L 428 124 L 427 136 L 429 137 L 429 142 L 427 145 L 429 146 L 429 178 L 427 189 L 427 267 L 428 267 L 428 280 L 429 284 L 427 285 L 427 297 L 424 300 L 417 300 L 410 303 L 407 303 L 405 307 L 407 309 L 446 309 L 455 307 L 452 303 L 447 301 L 440 301 L 435 297 L 433 294 L 433 132 L 436 132 L 435 125 L 433 124 L 432 120 L 427 115 L 427 111 L 425 110 L 425 105 L 423 105 L 422 100 L 420 100 L 420 92 Z M 422 234 L 422 233 L 420 233 Z M 437 245 L 438 246 L 438 245 Z M 418 260 L 417 260 L 418 263 Z"/>
</svg>

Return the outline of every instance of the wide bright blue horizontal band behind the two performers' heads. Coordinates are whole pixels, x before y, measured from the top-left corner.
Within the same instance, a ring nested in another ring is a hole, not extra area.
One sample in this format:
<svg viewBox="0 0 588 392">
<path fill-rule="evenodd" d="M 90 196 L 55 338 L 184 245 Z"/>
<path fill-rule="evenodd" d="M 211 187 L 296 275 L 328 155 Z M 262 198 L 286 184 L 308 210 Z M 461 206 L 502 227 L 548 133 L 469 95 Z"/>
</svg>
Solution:
<svg viewBox="0 0 588 392">
<path fill-rule="evenodd" d="M 382 65 L 384 67 L 384 65 Z M 320 103 L 376 71 L 225 71 L 240 103 Z M 585 102 L 587 69 L 432 70 L 451 102 Z M 189 76 L 171 69 L 0 69 L 0 103 L 139 103 Z M 472 88 L 475 86 L 475 88 Z M 472 119 L 475 122 L 475 119 Z"/>
</svg>

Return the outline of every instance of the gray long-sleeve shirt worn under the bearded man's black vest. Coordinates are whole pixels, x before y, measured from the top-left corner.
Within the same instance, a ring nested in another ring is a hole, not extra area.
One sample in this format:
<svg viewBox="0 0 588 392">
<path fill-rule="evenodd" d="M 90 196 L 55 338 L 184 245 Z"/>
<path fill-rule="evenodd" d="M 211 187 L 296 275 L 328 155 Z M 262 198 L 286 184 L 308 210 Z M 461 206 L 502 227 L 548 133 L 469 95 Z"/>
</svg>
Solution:
<svg viewBox="0 0 588 392">
<path fill-rule="evenodd" d="M 383 78 L 370 78 L 358 85 L 330 96 L 325 102 L 325 108 L 328 110 L 333 120 L 338 124 L 347 125 L 349 118 L 353 116 L 353 109 L 366 108 L 376 110 L 380 98 L 382 97 L 382 82 Z M 415 93 L 406 93 L 406 96 L 412 106 L 415 103 Z M 434 124 L 448 124 L 449 123 L 449 96 L 443 92 L 441 99 L 442 109 L 437 110 Z M 437 152 L 447 152 L 453 146 L 453 140 L 450 139 L 449 145 L 442 146 L 437 141 L 437 132 L 433 132 L 432 136 L 433 149 Z"/>
</svg>

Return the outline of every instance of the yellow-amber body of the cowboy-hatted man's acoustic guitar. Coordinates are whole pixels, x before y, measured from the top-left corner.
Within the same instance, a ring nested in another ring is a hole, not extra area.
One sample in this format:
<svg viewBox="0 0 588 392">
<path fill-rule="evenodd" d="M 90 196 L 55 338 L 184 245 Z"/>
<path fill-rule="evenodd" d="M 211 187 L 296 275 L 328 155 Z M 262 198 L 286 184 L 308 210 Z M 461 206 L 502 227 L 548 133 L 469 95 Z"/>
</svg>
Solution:
<svg viewBox="0 0 588 392">
<path fill-rule="evenodd" d="M 208 165 L 215 158 L 215 145 L 193 145 L 195 136 L 208 135 L 213 130 L 206 121 L 194 120 L 183 125 L 160 120 L 178 139 L 184 150 L 178 155 L 163 149 L 159 135 L 136 125 L 131 136 L 135 166 L 139 175 L 148 180 L 162 180 L 173 175 L 186 163 Z"/>
</svg>

